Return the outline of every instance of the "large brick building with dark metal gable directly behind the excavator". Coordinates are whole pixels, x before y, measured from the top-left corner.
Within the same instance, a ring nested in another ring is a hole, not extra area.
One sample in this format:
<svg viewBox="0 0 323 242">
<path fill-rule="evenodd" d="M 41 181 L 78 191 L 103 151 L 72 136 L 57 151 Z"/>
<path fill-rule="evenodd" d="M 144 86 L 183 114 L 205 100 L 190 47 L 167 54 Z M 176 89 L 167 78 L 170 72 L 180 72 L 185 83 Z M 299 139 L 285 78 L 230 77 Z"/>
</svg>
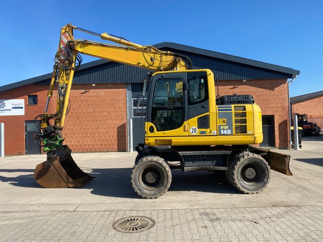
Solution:
<svg viewBox="0 0 323 242">
<path fill-rule="evenodd" d="M 155 47 L 190 57 L 194 69 L 212 70 L 221 95 L 253 95 L 263 115 L 261 146 L 289 146 L 287 80 L 299 71 L 170 42 Z M 86 152 L 132 151 L 142 143 L 141 109 L 136 108 L 135 99 L 146 72 L 102 59 L 81 65 L 73 79 L 71 111 L 63 130 L 65 144 L 74 152 Z M 44 111 L 50 77 L 49 73 L 0 87 L 0 100 L 25 100 L 25 115 L 0 115 L 0 123 L 5 123 L 7 155 L 40 153 L 32 139 L 38 132 L 33 120 Z M 55 105 L 51 100 L 49 113 L 55 112 Z"/>
</svg>

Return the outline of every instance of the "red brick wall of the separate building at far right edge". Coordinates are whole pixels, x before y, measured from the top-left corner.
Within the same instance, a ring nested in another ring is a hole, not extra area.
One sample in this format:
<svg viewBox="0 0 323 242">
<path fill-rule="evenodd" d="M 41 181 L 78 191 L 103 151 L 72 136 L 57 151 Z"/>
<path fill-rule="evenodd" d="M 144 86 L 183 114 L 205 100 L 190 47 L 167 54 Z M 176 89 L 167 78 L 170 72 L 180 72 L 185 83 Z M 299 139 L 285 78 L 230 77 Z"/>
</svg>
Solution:
<svg viewBox="0 0 323 242">
<path fill-rule="evenodd" d="M 309 122 L 314 121 L 318 126 L 323 127 L 323 96 L 292 104 L 292 112 L 305 113 Z"/>
</svg>

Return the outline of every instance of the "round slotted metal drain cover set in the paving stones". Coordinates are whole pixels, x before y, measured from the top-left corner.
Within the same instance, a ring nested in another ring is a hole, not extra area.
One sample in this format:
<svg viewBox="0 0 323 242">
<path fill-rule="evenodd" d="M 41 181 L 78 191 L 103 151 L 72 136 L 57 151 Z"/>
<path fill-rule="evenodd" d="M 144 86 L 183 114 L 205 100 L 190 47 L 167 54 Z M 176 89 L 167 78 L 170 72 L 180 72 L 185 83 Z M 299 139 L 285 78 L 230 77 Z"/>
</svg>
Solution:
<svg viewBox="0 0 323 242">
<path fill-rule="evenodd" d="M 148 217 L 143 216 L 131 216 L 116 220 L 112 227 L 123 233 L 139 233 L 152 228 L 155 225 L 155 221 Z"/>
</svg>

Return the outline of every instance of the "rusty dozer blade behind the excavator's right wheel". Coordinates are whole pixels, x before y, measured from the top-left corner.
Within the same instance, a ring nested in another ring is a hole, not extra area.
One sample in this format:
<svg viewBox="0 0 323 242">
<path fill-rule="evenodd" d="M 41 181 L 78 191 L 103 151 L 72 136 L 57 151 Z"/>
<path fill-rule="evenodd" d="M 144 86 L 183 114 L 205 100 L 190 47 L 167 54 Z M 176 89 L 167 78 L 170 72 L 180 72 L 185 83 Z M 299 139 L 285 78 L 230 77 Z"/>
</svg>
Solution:
<svg viewBox="0 0 323 242">
<path fill-rule="evenodd" d="M 293 175 L 289 168 L 291 156 L 273 152 L 271 150 L 249 146 L 249 150 L 255 154 L 262 156 L 270 165 L 272 170 L 283 173 L 285 175 Z"/>
</svg>

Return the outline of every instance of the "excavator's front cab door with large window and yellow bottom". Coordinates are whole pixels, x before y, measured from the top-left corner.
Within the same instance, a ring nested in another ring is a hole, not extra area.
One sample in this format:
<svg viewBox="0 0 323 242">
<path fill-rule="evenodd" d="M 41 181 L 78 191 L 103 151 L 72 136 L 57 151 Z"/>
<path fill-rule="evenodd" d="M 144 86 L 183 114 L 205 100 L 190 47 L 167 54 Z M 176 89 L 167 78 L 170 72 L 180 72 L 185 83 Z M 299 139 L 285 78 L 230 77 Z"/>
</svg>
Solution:
<svg viewBox="0 0 323 242">
<path fill-rule="evenodd" d="M 153 76 L 146 120 L 147 137 L 187 136 L 187 73 Z"/>
</svg>

